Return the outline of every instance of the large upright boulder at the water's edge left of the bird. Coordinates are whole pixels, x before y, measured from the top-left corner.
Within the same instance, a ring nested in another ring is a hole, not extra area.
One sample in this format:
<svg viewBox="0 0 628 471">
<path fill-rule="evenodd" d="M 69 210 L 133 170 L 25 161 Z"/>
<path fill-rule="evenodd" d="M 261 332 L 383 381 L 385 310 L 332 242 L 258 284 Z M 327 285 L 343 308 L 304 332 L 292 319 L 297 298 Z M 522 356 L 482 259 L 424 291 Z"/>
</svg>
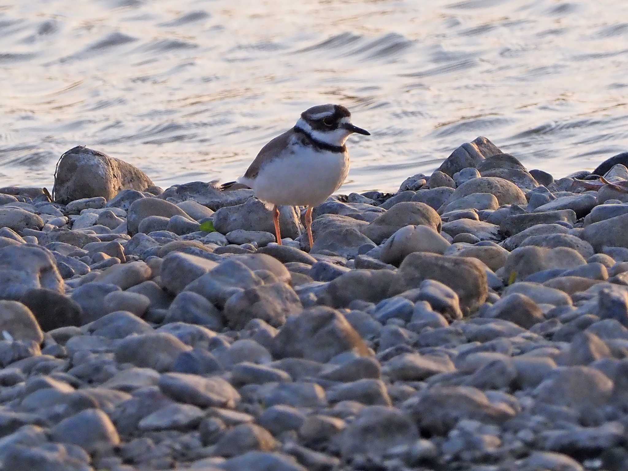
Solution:
<svg viewBox="0 0 628 471">
<path fill-rule="evenodd" d="M 126 188 L 144 191 L 153 186 L 153 181 L 130 163 L 77 146 L 61 156 L 52 193 L 56 202 L 67 204 L 99 196 L 111 200 Z"/>
</svg>

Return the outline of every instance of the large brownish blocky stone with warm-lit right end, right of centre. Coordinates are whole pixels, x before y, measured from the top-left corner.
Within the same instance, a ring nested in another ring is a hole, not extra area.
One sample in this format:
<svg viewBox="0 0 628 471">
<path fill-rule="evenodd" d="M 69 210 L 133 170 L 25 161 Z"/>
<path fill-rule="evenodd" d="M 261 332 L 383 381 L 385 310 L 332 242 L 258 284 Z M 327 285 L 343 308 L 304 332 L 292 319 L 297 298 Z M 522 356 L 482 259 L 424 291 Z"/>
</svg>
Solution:
<svg viewBox="0 0 628 471">
<path fill-rule="evenodd" d="M 477 310 L 489 293 L 486 266 L 475 258 L 452 257 L 428 252 L 409 254 L 399 266 L 390 295 L 418 288 L 422 281 L 434 279 L 452 288 L 465 313 Z"/>
</svg>

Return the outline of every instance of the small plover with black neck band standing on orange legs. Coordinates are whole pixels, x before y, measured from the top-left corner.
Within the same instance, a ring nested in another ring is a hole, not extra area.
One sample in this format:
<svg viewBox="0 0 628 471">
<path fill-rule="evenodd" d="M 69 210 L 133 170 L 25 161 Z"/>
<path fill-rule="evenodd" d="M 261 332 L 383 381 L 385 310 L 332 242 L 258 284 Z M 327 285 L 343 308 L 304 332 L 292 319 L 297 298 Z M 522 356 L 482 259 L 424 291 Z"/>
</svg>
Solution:
<svg viewBox="0 0 628 471">
<path fill-rule="evenodd" d="M 305 227 L 310 249 L 314 245 L 313 207 L 325 202 L 349 173 L 347 138 L 353 133 L 370 136 L 351 122 L 349 110 L 337 104 L 317 105 L 301 113 L 294 127 L 268 142 L 247 171 L 226 190 L 241 183 L 253 190 L 273 213 L 277 243 L 281 245 L 279 206 L 305 206 Z"/>
</svg>

